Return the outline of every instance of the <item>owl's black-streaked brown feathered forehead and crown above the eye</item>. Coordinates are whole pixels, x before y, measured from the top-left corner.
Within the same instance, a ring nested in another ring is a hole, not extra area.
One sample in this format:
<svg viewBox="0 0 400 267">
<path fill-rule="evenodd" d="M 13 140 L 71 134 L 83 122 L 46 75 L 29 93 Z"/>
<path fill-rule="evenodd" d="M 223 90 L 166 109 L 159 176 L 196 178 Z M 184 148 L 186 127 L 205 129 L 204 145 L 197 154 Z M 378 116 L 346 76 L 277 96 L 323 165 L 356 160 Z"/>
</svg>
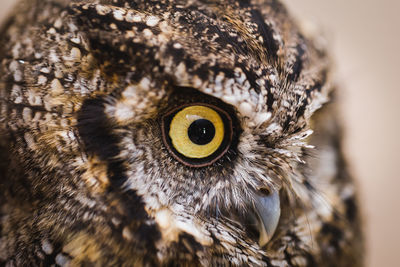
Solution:
<svg viewBox="0 0 400 267">
<path fill-rule="evenodd" d="M 220 98 L 256 124 L 324 101 L 325 55 L 276 1 L 109 2 L 70 13 L 119 69 Z"/>
</svg>

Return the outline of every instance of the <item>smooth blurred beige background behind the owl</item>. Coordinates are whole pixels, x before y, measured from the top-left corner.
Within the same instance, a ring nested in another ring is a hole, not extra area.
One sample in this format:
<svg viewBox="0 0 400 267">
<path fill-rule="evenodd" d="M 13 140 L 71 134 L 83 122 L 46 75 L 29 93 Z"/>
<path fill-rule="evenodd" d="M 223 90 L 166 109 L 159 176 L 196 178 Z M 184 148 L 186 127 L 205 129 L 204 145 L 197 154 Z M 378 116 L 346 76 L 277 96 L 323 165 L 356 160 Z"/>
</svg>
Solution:
<svg viewBox="0 0 400 267">
<path fill-rule="evenodd" d="M 400 266 L 400 1 L 284 1 L 300 21 L 323 29 L 336 61 L 346 151 L 367 221 L 367 266 Z M 0 19 L 14 2 L 0 0 Z"/>
</svg>

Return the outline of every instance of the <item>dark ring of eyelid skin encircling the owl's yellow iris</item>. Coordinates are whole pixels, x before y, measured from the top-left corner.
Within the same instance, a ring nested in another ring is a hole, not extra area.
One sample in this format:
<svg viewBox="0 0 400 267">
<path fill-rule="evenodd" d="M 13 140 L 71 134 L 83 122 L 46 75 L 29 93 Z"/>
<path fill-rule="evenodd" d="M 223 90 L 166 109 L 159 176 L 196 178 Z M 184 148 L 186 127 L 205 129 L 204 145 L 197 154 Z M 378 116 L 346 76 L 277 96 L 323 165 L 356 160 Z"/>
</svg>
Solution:
<svg viewBox="0 0 400 267">
<path fill-rule="evenodd" d="M 171 122 L 172 122 L 174 116 L 176 116 L 179 112 L 183 111 L 186 108 L 196 107 L 196 106 L 206 107 L 206 108 L 213 110 L 215 113 L 217 113 L 223 122 L 224 131 L 223 131 L 222 142 L 213 153 L 211 153 L 210 155 L 205 154 L 205 157 L 201 157 L 201 158 L 190 158 L 190 157 L 187 157 L 187 156 L 183 155 L 182 153 L 180 153 L 174 147 L 173 142 L 171 140 L 171 136 L 170 136 L 170 126 L 171 126 Z M 201 103 L 201 102 L 184 104 L 184 105 L 178 106 L 176 108 L 173 108 L 172 110 L 168 111 L 167 113 L 165 113 L 162 116 L 161 132 L 162 132 L 162 139 L 163 139 L 163 142 L 164 142 L 167 150 L 177 161 L 179 161 L 180 163 L 182 163 L 188 167 L 194 167 L 194 168 L 206 167 L 206 166 L 209 166 L 209 165 L 215 163 L 229 150 L 229 147 L 232 143 L 232 138 L 233 138 L 232 118 L 225 110 L 223 110 L 219 107 L 216 107 L 214 105 Z"/>
</svg>

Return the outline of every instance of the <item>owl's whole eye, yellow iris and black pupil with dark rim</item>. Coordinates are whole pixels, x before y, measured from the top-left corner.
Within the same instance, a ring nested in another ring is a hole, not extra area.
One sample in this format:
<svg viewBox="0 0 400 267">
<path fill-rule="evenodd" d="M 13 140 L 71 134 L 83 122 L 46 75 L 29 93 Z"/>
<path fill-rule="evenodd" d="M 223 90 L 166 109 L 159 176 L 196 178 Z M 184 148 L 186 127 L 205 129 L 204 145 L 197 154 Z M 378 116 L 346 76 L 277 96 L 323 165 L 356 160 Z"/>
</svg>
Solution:
<svg viewBox="0 0 400 267">
<path fill-rule="evenodd" d="M 196 103 L 168 112 L 162 119 L 163 140 L 175 159 L 204 167 L 221 158 L 232 140 L 232 120 L 220 108 Z"/>
</svg>

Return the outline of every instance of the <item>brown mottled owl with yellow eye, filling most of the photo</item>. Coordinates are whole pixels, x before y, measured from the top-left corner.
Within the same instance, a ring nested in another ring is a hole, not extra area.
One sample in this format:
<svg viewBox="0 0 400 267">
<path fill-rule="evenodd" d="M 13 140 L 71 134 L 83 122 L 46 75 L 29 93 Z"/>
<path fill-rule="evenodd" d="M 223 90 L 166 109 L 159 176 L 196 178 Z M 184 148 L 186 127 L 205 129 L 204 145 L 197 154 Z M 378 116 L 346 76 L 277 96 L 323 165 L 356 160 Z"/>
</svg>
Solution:
<svg viewBox="0 0 400 267">
<path fill-rule="evenodd" d="M 1 266 L 362 266 L 325 48 L 276 0 L 24 0 Z"/>
</svg>

